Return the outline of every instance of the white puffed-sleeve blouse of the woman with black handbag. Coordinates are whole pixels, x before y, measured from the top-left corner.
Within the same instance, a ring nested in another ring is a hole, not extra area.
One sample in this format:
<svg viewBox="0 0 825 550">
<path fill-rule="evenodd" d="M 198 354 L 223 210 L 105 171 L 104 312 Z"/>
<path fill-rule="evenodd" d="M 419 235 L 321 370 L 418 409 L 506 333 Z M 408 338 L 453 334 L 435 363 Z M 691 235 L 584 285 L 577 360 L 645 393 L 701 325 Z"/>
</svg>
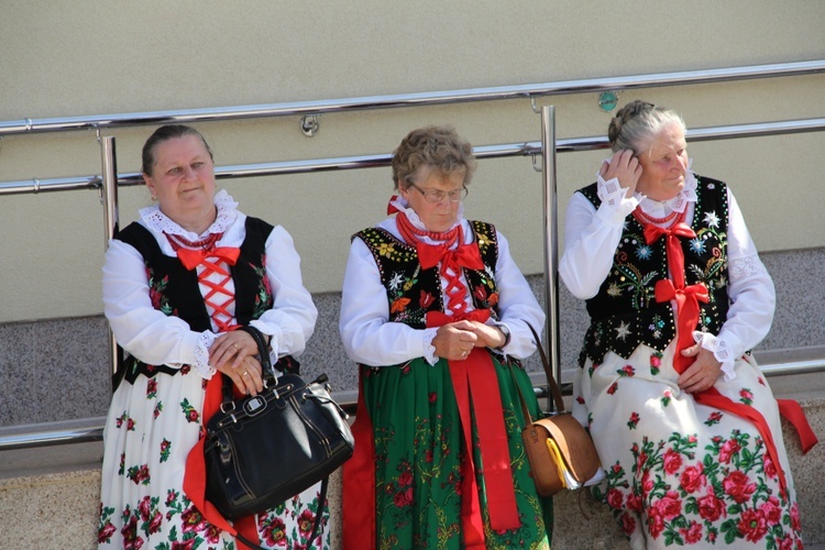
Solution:
<svg viewBox="0 0 825 550">
<path fill-rule="evenodd" d="M 218 217 L 201 235 L 184 230 L 156 205 L 142 209 L 138 222 L 152 233 L 168 256 L 176 254 L 164 232 L 190 241 L 211 233 L 223 233 L 216 243 L 218 246 L 240 246 L 245 238 L 246 216 L 237 209 L 238 204 L 226 190 L 219 191 L 215 201 Z M 251 324 L 272 337 L 273 359 L 299 355 L 315 330 L 318 310 L 301 282 L 300 257 L 289 233 L 280 226 L 275 227 L 265 249 L 266 276 L 274 305 Z M 201 294 L 206 292 L 204 285 L 199 286 Z M 231 279 L 226 288 L 234 294 Z M 207 306 L 207 309 L 211 315 L 211 308 Z M 234 315 L 234 301 L 228 309 Z M 154 309 L 143 257 L 134 248 L 117 239 L 109 242 L 106 253 L 103 311 L 118 343 L 139 360 L 169 366 L 189 364 L 206 378 L 215 373 L 209 365 L 209 348 L 218 334 L 213 331 L 193 331 L 180 318 Z M 216 327 L 212 329 L 216 330 Z"/>
</svg>

